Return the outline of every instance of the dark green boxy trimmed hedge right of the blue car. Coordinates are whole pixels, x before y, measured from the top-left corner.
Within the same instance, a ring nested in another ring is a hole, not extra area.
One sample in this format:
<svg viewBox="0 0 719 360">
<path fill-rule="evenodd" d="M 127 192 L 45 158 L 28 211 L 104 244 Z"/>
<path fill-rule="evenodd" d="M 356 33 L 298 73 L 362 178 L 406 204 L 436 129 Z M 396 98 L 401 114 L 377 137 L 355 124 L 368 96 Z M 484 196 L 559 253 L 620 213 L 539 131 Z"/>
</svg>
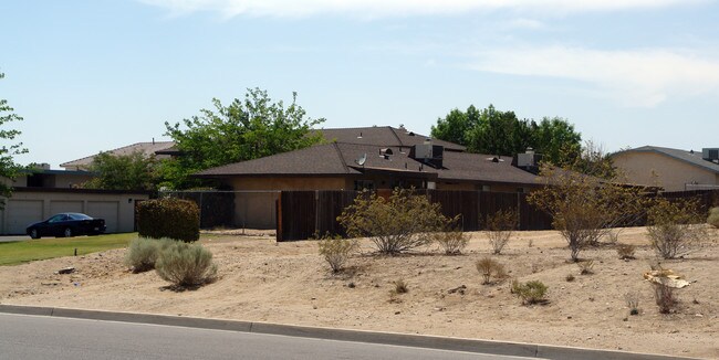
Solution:
<svg viewBox="0 0 719 360">
<path fill-rule="evenodd" d="M 197 204 L 174 198 L 154 199 L 137 204 L 137 230 L 143 237 L 169 237 L 184 242 L 200 239 Z"/>
</svg>

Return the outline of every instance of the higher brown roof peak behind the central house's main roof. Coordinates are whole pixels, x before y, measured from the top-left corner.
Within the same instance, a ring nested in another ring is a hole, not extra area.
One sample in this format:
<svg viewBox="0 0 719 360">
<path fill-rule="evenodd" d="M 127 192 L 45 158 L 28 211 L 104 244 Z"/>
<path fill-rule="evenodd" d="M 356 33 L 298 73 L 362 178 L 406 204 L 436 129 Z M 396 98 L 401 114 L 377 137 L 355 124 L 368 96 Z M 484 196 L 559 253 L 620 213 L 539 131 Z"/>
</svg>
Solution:
<svg viewBox="0 0 719 360">
<path fill-rule="evenodd" d="M 429 138 L 426 135 L 415 134 L 405 128 L 394 128 L 392 126 L 320 129 L 316 131 L 321 131 L 327 141 L 385 147 L 411 147 L 423 144 Z M 461 145 L 437 139 L 433 139 L 433 144 L 441 145 L 449 151 L 465 151 L 467 149 Z"/>
</svg>

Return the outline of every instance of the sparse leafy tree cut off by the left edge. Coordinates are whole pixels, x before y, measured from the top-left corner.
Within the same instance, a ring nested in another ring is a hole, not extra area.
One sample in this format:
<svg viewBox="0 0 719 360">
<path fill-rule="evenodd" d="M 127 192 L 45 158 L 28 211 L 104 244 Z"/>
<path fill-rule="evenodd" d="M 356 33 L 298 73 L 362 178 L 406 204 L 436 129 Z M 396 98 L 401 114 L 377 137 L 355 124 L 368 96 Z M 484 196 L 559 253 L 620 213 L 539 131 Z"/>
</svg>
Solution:
<svg viewBox="0 0 719 360">
<path fill-rule="evenodd" d="M 0 80 L 6 75 L 0 73 Z M 6 123 L 21 121 L 22 117 L 13 113 L 14 109 L 8 105 L 8 100 L 0 98 L 0 127 Z M 6 130 L 0 128 L 0 197 L 9 198 L 12 194 L 12 187 L 6 183 L 6 179 L 14 179 L 20 166 L 18 166 L 12 156 L 25 153 L 28 149 L 22 147 L 22 142 L 7 145 L 7 140 L 14 140 L 20 135 L 19 130 Z M 0 199 L 0 209 L 4 209 L 4 200 Z"/>
</svg>

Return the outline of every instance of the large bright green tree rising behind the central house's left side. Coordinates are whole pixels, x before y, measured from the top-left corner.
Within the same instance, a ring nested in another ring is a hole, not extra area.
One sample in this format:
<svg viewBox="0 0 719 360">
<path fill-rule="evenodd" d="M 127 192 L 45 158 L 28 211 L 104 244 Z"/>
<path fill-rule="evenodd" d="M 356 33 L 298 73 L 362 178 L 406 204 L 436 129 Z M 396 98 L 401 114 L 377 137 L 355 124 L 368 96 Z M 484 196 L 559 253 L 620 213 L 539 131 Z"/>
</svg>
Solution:
<svg viewBox="0 0 719 360">
<path fill-rule="evenodd" d="M 305 119 L 305 110 L 296 104 L 296 93 L 292 93 L 292 104 L 286 108 L 259 88 L 248 88 L 244 100 L 236 98 L 225 106 L 215 98 L 212 105 L 215 110 L 201 109 L 199 116 L 184 119 L 184 128 L 179 123 L 165 123 L 166 135 L 175 140 L 180 155 L 164 161 L 164 186 L 197 187 L 200 182 L 190 177 L 195 172 L 323 141 L 322 134 L 313 135 L 310 130 L 324 119 Z"/>
</svg>

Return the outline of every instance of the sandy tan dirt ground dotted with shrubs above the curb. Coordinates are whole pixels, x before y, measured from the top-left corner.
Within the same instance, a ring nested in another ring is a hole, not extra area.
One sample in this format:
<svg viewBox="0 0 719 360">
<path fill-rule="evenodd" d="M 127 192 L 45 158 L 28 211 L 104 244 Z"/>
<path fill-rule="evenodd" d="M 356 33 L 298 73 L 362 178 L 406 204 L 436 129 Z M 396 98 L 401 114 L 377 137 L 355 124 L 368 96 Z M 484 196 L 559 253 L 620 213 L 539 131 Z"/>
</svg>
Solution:
<svg viewBox="0 0 719 360">
<path fill-rule="evenodd" d="M 600 349 L 719 358 L 719 234 L 665 268 L 691 283 L 678 289 L 675 314 L 661 315 L 643 273 L 656 256 L 645 229 L 626 229 L 621 243 L 637 245 L 636 260 L 619 260 L 612 246 L 584 251 L 594 274 L 580 275 L 567 262 L 566 243 L 553 231 L 515 233 L 494 256 L 521 282 L 550 288 L 546 305 L 523 306 L 510 280 L 481 285 L 475 262 L 490 253 L 487 237 L 471 233 L 465 255 L 439 250 L 395 257 L 362 253 L 350 271 L 333 276 L 314 242 L 275 243 L 250 236 L 211 234 L 205 246 L 219 266 L 217 282 L 174 292 L 154 272 L 133 274 L 125 250 L 0 267 L 0 303 L 168 314 L 461 338 L 538 342 Z M 73 266 L 75 273 L 55 272 Z M 573 274 L 575 279 L 567 282 Z M 393 282 L 409 292 L 390 296 Z M 465 286 L 465 288 L 462 288 Z M 640 314 L 631 316 L 625 294 L 638 293 Z"/>
</svg>

